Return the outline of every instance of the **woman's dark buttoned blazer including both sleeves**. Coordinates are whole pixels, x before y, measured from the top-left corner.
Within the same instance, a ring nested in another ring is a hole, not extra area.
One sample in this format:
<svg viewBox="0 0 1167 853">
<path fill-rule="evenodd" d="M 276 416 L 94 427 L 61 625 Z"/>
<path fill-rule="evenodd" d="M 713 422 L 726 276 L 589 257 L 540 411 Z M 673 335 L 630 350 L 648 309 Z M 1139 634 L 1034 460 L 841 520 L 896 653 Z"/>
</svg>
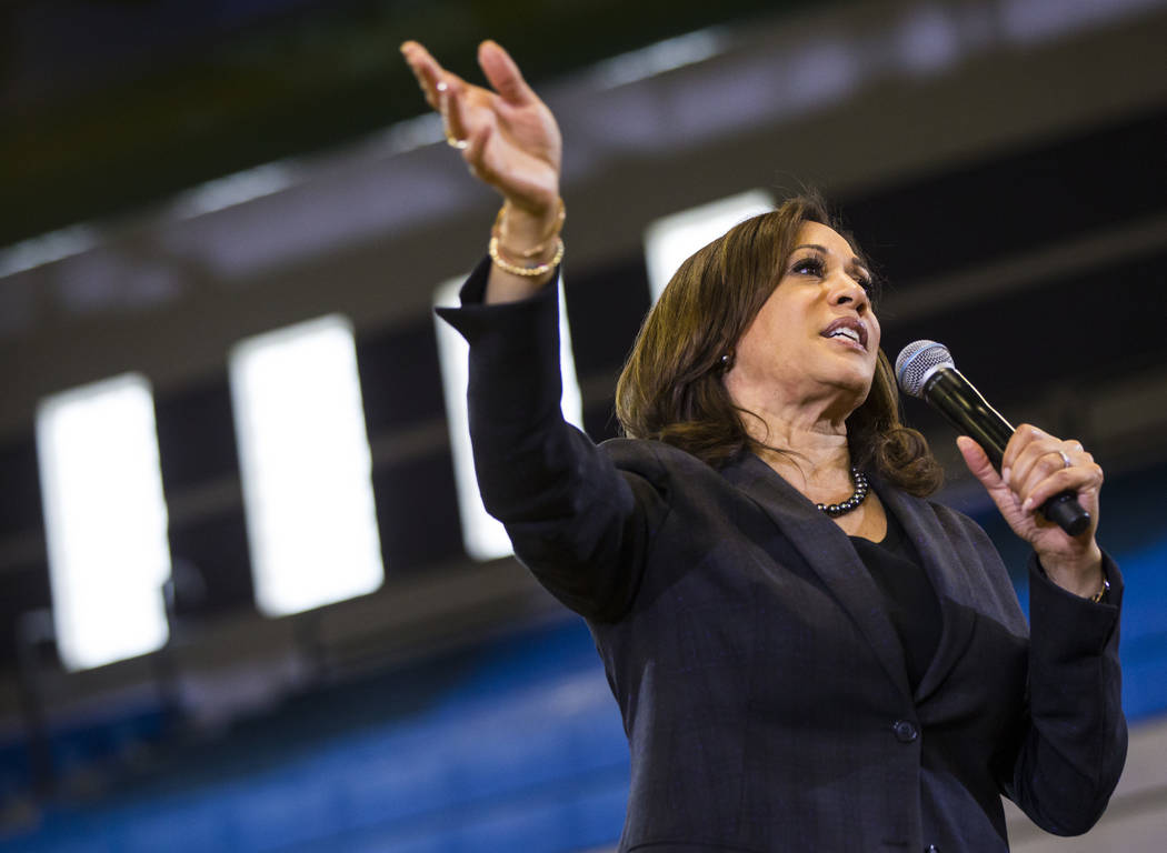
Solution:
<svg viewBox="0 0 1167 853">
<path fill-rule="evenodd" d="M 470 341 L 487 508 L 584 615 L 631 751 L 621 851 L 1005 851 L 1000 795 L 1043 828 L 1099 817 L 1126 749 L 1121 576 L 1109 602 L 1030 561 L 1032 636 L 972 520 L 874 482 L 941 603 L 918 687 L 847 536 L 764 462 L 595 447 L 559 412 L 555 288 L 442 310 Z"/>
</svg>

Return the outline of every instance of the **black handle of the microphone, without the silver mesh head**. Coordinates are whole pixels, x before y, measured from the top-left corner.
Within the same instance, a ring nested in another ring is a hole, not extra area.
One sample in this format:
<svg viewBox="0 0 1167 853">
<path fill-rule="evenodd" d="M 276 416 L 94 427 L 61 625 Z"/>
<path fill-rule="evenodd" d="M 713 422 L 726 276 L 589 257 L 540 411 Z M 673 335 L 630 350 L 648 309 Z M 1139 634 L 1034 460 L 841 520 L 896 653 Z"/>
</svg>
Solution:
<svg viewBox="0 0 1167 853">
<path fill-rule="evenodd" d="M 980 445 L 993 467 L 1000 470 L 1005 446 L 1013 436 L 1013 426 L 988 405 L 959 370 L 937 370 L 928 380 L 924 397 L 958 432 Z M 1090 513 L 1069 489 L 1046 501 L 1041 513 L 1070 536 L 1084 533 L 1090 527 Z"/>
</svg>

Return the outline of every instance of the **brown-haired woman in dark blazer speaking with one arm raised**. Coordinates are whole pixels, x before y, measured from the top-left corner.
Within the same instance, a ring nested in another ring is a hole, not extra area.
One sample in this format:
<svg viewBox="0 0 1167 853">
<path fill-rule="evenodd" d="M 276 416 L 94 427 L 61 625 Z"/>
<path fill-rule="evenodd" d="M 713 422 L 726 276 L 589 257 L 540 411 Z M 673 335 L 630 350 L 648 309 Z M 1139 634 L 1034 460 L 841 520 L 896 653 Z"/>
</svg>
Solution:
<svg viewBox="0 0 1167 853">
<path fill-rule="evenodd" d="M 750 219 L 680 268 L 617 389 L 629 438 L 559 413 L 560 138 L 497 44 L 491 90 L 403 53 L 503 210 L 443 312 L 470 342 L 488 509 L 582 614 L 631 751 L 622 851 L 1004 851 L 1000 795 L 1088 830 L 1121 771 L 1121 579 L 1035 515 L 1098 517 L 1075 441 L 1018 429 L 999 476 L 958 440 L 1034 550 L 1032 627 L 985 533 L 924 499 L 871 274 L 815 200 Z"/>
</svg>

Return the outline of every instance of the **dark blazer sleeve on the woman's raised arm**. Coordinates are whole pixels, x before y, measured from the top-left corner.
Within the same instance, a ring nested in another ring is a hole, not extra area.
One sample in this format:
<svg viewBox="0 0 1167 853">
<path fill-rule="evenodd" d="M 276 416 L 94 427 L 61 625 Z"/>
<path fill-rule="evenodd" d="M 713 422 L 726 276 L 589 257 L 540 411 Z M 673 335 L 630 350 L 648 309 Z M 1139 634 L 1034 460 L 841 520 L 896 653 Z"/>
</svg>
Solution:
<svg viewBox="0 0 1167 853">
<path fill-rule="evenodd" d="M 620 618 L 636 595 L 652 533 L 669 512 L 663 468 L 617 470 L 562 418 L 558 271 L 533 296 L 484 305 L 489 259 L 439 308 L 470 345 L 474 464 L 487 511 L 515 554 L 561 602 L 596 621 Z"/>
</svg>

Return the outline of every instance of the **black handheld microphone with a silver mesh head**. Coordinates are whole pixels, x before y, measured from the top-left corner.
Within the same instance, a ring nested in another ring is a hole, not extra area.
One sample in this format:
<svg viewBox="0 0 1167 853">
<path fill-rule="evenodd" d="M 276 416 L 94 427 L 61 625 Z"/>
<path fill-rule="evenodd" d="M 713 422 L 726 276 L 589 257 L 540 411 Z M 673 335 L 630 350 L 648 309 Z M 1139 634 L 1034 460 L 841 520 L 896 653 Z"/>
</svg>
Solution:
<svg viewBox="0 0 1167 853">
<path fill-rule="evenodd" d="M 1014 429 L 956 369 L 944 344 L 909 343 L 895 359 L 895 379 L 903 393 L 928 400 L 960 433 L 974 439 L 1000 470 L 1005 446 Z M 1090 526 L 1090 513 L 1069 489 L 1046 501 L 1041 513 L 1070 536 L 1078 536 Z"/>
</svg>

